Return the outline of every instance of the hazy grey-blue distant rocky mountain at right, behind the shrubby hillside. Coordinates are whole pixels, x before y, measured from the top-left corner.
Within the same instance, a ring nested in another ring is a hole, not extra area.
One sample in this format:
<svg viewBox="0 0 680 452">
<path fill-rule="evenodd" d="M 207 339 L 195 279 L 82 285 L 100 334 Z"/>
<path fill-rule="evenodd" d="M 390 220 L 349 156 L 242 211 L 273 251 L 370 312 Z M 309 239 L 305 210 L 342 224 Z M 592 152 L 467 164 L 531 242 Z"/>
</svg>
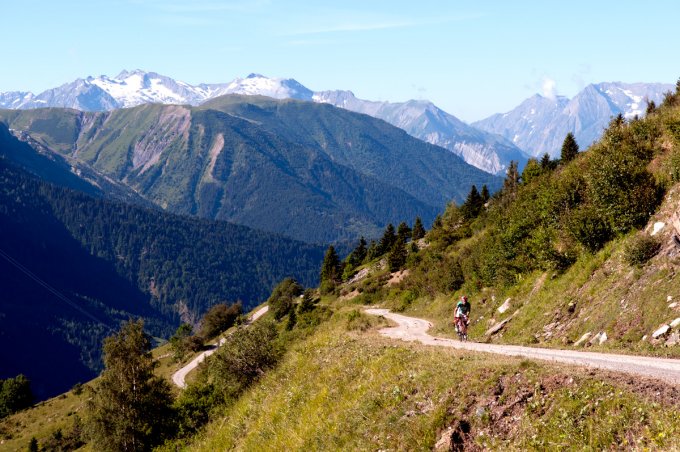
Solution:
<svg viewBox="0 0 680 452">
<path fill-rule="evenodd" d="M 673 85 L 662 83 L 598 83 L 572 99 L 536 94 L 507 113 L 495 114 L 472 126 L 505 137 L 533 157 L 559 157 L 569 133 L 585 149 L 602 136 L 613 116 L 643 116 L 648 101 L 657 105 Z"/>
</svg>

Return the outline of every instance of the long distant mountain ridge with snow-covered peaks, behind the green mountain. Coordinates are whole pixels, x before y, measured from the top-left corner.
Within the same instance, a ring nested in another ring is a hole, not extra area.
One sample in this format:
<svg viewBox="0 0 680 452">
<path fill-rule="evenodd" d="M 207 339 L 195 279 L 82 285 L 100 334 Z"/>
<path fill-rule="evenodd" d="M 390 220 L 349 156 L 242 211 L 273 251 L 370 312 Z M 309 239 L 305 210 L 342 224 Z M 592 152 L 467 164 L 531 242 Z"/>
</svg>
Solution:
<svg viewBox="0 0 680 452">
<path fill-rule="evenodd" d="M 410 135 L 446 148 L 467 163 L 492 174 L 503 174 L 511 160 L 523 164 L 527 156 L 494 134 L 477 130 L 431 102 L 372 102 L 357 99 L 350 91 L 313 92 L 293 79 L 250 74 L 229 83 L 190 85 L 154 72 L 123 71 L 78 79 L 38 95 L 25 92 L 0 93 L 0 107 L 31 109 L 74 108 L 107 111 L 145 103 L 199 105 L 226 94 L 259 95 L 275 99 L 297 99 L 329 103 L 364 113 L 399 127 Z"/>
</svg>

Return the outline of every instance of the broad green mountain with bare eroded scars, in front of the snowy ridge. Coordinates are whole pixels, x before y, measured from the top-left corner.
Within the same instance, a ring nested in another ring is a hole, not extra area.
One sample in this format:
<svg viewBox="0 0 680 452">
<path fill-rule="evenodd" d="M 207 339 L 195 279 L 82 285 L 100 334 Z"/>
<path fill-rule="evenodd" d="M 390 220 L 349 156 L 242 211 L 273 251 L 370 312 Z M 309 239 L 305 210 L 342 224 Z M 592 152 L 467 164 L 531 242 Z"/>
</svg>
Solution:
<svg viewBox="0 0 680 452">
<path fill-rule="evenodd" d="M 2 110 L 0 122 L 172 212 L 306 242 L 427 223 L 500 179 L 384 121 L 335 108 L 223 96 L 198 108 Z"/>
</svg>

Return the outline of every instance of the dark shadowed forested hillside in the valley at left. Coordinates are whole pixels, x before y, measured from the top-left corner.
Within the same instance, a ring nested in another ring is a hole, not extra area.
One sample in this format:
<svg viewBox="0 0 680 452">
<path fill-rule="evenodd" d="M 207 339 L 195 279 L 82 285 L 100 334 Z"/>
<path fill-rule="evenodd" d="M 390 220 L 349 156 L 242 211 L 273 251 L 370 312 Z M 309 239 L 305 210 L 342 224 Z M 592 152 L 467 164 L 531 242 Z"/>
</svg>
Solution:
<svg viewBox="0 0 680 452">
<path fill-rule="evenodd" d="M 0 351 L 0 378 L 24 373 L 41 397 L 94 376 L 101 339 L 128 316 L 168 337 L 180 317 L 253 306 L 286 276 L 315 284 L 322 256 L 281 236 L 59 188 L 5 159 L 0 250 L 0 334 L 12 344 Z"/>
</svg>

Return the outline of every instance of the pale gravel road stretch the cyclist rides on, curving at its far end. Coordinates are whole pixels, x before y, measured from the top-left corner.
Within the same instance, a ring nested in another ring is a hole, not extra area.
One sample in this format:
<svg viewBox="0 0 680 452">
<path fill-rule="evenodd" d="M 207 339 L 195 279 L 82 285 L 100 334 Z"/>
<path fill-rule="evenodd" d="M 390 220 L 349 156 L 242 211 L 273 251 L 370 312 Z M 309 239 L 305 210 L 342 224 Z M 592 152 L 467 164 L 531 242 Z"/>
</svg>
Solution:
<svg viewBox="0 0 680 452">
<path fill-rule="evenodd" d="M 625 372 L 663 380 L 680 385 L 680 360 L 653 358 L 648 356 L 617 355 L 610 353 L 556 350 L 547 348 L 522 347 L 519 345 L 480 344 L 460 342 L 454 339 L 438 338 L 427 334 L 432 324 L 427 320 L 395 314 L 388 309 L 366 309 L 366 313 L 381 315 L 397 323 L 396 327 L 382 328 L 380 334 L 393 339 L 417 341 L 426 345 L 453 347 L 476 352 L 497 353 L 509 356 L 523 356 L 578 366 Z"/>
</svg>

